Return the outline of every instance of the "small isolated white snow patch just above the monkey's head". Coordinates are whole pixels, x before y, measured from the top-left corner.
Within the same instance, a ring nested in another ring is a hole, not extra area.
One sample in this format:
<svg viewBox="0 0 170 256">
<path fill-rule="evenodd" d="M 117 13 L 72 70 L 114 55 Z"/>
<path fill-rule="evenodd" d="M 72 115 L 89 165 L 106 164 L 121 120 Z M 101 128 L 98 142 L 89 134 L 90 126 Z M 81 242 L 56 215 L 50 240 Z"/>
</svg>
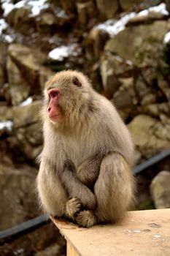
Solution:
<svg viewBox="0 0 170 256">
<path fill-rule="evenodd" d="M 63 61 L 64 58 L 72 56 L 77 56 L 76 53 L 77 43 L 72 43 L 70 45 L 62 45 L 55 48 L 48 53 L 48 57 L 53 60 Z M 74 52 L 75 51 L 75 52 Z"/>
</svg>

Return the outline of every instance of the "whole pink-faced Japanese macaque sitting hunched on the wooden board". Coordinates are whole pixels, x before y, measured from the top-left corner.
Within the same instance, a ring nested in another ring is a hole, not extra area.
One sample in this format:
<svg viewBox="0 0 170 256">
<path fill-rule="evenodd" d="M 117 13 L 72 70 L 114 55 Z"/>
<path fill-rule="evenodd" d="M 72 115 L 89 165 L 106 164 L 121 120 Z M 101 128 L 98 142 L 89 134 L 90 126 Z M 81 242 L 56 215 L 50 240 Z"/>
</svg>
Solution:
<svg viewBox="0 0 170 256">
<path fill-rule="evenodd" d="M 134 201 L 134 146 L 117 110 L 77 71 L 58 72 L 44 95 L 42 208 L 82 227 L 122 219 Z"/>
</svg>

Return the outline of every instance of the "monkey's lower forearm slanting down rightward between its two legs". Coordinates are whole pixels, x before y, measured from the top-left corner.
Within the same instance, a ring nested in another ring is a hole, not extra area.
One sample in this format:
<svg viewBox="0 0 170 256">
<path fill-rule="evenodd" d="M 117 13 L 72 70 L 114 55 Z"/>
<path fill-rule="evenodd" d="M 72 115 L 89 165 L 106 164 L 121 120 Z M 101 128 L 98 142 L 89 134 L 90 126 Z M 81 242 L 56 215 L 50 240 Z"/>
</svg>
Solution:
<svg viewBox="0 0 170 256">
<path fill-rule="evenodd" d="M 61 181 L 69 194 L 69 197 L 80 199 L 82 206 L 90 210 L 96 208 L 96 197 L 85 184 L 77 178 L 74 164 L 66 160 L 63 171 L 60 172 Z"/>
</svg>

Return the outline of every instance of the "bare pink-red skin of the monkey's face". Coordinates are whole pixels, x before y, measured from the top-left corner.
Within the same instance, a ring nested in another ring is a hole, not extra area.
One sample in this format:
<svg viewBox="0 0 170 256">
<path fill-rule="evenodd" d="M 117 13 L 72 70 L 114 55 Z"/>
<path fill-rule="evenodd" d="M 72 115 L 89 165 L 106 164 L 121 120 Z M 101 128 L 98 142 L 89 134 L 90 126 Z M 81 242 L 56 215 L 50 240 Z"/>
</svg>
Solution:
<svg viewBox="0 0 170 256">
<path fill-rule="evenodd" d="M 60 91 L 58 89 L 50 89 L 48 91 L 48 97 L 50 102 L 47 106 L 47 114 L 51 121 L 61 121 L 63 116 L 60 108 L 58 107 L 58 99 L 60 97 Z"/>
</svg>

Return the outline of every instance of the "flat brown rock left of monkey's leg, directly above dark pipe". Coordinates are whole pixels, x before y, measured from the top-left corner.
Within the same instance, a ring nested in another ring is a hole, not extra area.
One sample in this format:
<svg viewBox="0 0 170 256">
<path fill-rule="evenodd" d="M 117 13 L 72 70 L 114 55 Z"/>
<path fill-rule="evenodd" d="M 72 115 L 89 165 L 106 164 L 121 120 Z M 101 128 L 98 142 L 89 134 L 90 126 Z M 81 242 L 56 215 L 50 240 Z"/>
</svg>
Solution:
<svg viewBox="0 0 170 256">
<path fill-rule="evenodd" d="M 38 214 L 35 194 L 36 169 L 0 166 L 1 230 L 15 226 Z"/>
</svg>

